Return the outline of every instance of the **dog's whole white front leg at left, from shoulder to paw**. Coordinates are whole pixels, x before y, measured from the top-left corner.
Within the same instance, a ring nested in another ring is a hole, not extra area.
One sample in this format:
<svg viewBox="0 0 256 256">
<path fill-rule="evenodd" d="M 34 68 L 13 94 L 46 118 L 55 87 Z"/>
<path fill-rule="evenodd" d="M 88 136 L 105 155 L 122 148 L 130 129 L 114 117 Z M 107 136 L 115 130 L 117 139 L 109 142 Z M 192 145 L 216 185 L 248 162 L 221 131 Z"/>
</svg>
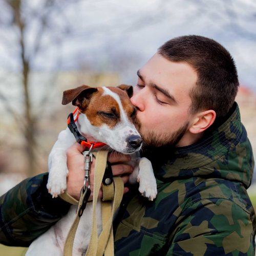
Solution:
<svg viewBox="0 0 256 256">
<path fill-rule="evenodd" d="M 47 189 L 53 197 L 57 197 L 67 188 L 68 168 L 66 152 L 74 142 L 75 138 L 68 128 L 61 131 L 49 155 Z"/>
</svg>

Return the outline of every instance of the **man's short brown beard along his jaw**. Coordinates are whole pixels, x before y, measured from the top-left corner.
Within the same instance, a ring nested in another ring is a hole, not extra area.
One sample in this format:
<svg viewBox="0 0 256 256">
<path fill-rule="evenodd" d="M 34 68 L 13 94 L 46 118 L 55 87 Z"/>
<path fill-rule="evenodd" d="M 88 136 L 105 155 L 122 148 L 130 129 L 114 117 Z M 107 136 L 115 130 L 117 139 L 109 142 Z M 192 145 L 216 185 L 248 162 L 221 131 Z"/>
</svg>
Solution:
<svg viewBox="0 0 256 256">
<path fill-rule="evenodd" d="M 180 126 L 179 129 L 177 129 L 175 132 L 168 133 L 167 131 L 164 134 L 158 134 L 154 131 L 149 131 L 146 134 L 143 134 L 141 131 L 141 123 L 137 118 L 135 121 L 135 125 L 140 133 L 141 138 L 143 139 L 143 148 L 146 150 L 149 148 L 158 148 L 165 146 L 175 147 L 187 131 L 188 122 Z"/>
</svg>

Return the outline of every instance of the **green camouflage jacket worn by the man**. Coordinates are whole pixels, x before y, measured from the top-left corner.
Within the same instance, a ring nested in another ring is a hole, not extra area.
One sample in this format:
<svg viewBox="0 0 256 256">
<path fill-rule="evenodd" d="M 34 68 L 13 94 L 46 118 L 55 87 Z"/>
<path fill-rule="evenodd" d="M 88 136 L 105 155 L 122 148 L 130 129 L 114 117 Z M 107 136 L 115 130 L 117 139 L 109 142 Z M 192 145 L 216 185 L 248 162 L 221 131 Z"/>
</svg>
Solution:
<svg viewBox="0 0 256 256">
<path fill-rule="evenodd" d="M 254 255 L 255 214 L 247 195 L 254 167 L 237 104 L 190 146 L 152 154 L 158 196 L 130 189 L 115 227 L 116 255 Z M 69 205 L 51 199 L 47 174 L 0 198 L 0 242 L 27 246 Z"/>
</svg>

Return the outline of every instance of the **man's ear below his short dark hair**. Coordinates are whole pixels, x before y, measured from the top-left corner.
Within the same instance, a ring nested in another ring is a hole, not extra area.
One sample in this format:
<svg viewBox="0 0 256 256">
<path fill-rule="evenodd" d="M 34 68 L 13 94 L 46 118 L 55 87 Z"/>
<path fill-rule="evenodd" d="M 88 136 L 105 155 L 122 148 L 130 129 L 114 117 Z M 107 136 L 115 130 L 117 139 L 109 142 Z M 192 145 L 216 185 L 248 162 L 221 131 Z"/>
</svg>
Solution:
<svg viewBox="0 0 256 256">
<path fill-rule="evenodd" d="M 206 110 L 196 115 L 193 124 L 188 129 L 190 133 L 199 134 L 208 129 L 216 119 L 214 110 Z"/>
</svg>

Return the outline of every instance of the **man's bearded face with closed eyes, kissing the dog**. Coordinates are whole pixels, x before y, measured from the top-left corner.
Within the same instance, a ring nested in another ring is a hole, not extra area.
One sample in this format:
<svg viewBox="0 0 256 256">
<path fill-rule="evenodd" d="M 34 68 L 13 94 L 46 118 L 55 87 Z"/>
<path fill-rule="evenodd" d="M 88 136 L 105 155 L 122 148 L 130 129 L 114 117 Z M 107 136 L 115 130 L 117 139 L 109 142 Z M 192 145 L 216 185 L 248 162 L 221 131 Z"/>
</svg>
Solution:
<svg viewBox="0 0 256 256">
<path fill-rule="evenodd" d="M 131 98 L 137 107 L 138 130 L 149 146 L 187 145 L 193 115 L 189 91 L 197 74 L 185 62 L 173 62 L 156 53 L 138 71 Z"/>
</svg>

